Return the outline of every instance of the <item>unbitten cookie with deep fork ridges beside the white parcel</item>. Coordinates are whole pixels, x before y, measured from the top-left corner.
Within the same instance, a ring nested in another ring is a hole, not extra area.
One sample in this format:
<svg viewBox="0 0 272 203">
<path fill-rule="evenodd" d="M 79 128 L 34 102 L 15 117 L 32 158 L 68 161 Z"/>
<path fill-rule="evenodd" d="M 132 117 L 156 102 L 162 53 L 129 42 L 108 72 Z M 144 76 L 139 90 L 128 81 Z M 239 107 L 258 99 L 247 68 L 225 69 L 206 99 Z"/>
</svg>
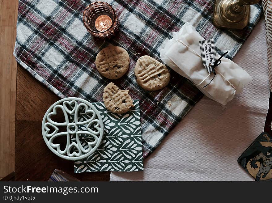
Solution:
<svg viewBox="0 0 272 203">
<path fill-rule="evenodd" d="M 134 74 L 138 84 L 148 91 L 162 89 L 170 81 L 170 73 L 166 66 L 150 56 L 142 56 L 138 59 Z"/>
</svg>

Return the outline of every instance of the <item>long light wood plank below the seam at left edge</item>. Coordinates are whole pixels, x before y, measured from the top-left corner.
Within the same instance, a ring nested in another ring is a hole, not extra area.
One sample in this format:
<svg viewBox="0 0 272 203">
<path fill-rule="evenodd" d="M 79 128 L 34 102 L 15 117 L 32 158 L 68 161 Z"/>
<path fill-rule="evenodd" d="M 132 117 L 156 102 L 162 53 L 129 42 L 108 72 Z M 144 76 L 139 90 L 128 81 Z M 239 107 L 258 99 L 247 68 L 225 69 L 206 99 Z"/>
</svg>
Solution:
<svg viewBox="0 0 272 203">
<path fill-rule="evenodd" d="M 3 5 L 3 2 L 2 2 Z M 14 14 L 13 14 L 14 15 Z M 10 102 L 11 102 L 11 69 L 12 69 L 12 50 L 13 50 L 14 27 L 0 26 L 0 69 L 1 75 L 1 112 L 0 120 L 0 176 L 6 176 L 13 168 L 11 164 L 10 151 L 13 149 L 13 135 L 10 140 Z M 11 146 L 12 145 L 12 146 Z"/>
</svg>

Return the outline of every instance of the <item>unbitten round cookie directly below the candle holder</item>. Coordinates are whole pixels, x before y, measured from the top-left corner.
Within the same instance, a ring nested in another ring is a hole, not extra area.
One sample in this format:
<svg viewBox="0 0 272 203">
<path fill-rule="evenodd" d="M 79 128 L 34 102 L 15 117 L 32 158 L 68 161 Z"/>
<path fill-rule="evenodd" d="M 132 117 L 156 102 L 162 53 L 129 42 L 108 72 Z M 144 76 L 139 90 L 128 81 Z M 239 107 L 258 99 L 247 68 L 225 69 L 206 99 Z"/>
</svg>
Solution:
<svg viewBox="0 0 272 203">
<path fill-rule="evenodd" d="M 129 69 L 130 57 L 125 49 L 108 46 L 96 56 L 96 68 L 106 78 L 121 78 Z"/>
</svg>

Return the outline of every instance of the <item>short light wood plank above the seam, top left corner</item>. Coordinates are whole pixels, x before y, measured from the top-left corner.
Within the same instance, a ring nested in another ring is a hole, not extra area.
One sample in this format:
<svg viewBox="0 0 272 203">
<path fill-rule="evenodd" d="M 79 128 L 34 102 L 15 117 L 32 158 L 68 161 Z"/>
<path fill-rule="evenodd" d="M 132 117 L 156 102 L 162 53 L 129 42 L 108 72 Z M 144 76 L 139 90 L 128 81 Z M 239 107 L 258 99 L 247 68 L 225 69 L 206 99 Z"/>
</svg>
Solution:
<svg viewBox="0 0 272 203">
<path fill-rule="evenodd" d="M 0 26 L 14 26 L 14 10 L 18 0 L 1 0 Z M 13 35 L 12 35 L 13 36 Z"/>
</svg>

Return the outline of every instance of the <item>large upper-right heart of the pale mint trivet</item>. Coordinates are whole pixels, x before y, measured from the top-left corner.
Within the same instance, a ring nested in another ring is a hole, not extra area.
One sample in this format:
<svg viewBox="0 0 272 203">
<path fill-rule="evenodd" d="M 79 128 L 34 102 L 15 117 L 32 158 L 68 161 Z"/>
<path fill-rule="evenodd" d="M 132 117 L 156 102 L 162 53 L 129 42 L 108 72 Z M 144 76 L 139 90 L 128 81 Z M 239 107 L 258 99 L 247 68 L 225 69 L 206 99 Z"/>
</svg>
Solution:
<svg viewBox="0 0 272 203">
<path fill-rule="evenodd" d="M 89 123 L 93 119 L 95 119 L 96 113 L 94 110 L 89 109 L 87 104 L 81 103 L 77 105 L 75 113 L 74 113 L 74 122 L 76 125 L 83 125 Z M 79 121 L 83 120 L 83 121 Z"/>
</svg>

